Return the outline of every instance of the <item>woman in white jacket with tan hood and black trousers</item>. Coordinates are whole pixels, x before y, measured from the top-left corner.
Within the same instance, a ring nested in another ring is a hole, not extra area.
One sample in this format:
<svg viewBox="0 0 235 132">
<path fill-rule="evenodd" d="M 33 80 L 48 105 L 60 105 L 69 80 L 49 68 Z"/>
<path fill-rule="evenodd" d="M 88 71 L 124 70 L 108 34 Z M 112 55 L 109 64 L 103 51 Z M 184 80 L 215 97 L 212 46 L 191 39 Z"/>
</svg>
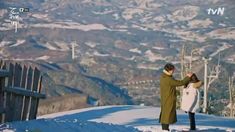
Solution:
<svg viewBox="0 0 235 132">
<path fill-rule="evenodd" d="M 196 74 L 191 76 L 189 84 L 183 89 L 181 109 L 188 113 L 190 121 L 190 130 L 196 130 L 195 112 L 199 108 L 199 88 L 202 82 L 198 80 Z"/>
</svg>

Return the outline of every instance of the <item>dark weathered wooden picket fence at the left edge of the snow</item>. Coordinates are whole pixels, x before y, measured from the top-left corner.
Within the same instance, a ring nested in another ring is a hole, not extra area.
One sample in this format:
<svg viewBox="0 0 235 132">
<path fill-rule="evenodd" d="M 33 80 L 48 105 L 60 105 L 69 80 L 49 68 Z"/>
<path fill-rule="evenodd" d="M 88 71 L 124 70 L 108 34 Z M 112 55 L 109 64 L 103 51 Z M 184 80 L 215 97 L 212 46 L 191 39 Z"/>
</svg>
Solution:
<svg viewBox="0 0 235 132">
<path fill-rule="evenodd" d="M 41 83 L 38 68 L 0 61 L 0 123 L 36 119 Z"/>
</svg>

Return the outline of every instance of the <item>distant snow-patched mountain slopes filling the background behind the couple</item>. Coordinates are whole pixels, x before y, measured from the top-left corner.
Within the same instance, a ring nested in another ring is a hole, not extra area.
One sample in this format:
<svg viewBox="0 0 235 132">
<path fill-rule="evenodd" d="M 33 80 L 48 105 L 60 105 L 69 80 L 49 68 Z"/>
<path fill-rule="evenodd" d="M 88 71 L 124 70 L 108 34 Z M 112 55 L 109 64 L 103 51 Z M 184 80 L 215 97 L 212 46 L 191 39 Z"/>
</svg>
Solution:
<svg viewBox="0 0 235 132">
<path fill-rule="evenodd" d="M 19 14 L 16 33 L 12 8 L 29 8 Z M 220 53 L 223 72 L 210 94 L 218 100 L 228 97 L 221 89 L 235 71 L 234 12 L 234 0 L 1 0 L 0 56 L 37 64 L 48 97 L 82 93 L 102 105 L 159 105 L 158 81 L 135 95 L 120 84 L 136 77 L 158 80 L 166 62 L 180 66 L 185 44 L 186 60 L 197 49 L 193 69 L 201 79 L 201 58 L 211 56 L 216 64 Z"/>
</svg>

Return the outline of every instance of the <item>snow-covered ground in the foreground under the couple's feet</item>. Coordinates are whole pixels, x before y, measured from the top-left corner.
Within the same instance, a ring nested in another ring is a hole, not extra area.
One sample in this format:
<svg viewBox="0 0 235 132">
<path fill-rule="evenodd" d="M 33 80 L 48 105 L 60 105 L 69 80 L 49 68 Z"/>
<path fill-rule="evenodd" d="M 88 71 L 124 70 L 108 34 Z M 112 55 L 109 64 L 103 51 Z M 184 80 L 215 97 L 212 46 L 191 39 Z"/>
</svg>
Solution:
<svg viewBox="0 0 235 132">
<path fill-rule="evenodd" d="M 2 124 L 3 132 L 161 132 L 160 108 L 146 106 L 103 106 L 44 115 L 37 120 Z M 189 128 L 188 116 L 178 111 L 173 131 Z M 235 119 L 196 114 L 202 132 L 235 131 Z"/>
</svg>

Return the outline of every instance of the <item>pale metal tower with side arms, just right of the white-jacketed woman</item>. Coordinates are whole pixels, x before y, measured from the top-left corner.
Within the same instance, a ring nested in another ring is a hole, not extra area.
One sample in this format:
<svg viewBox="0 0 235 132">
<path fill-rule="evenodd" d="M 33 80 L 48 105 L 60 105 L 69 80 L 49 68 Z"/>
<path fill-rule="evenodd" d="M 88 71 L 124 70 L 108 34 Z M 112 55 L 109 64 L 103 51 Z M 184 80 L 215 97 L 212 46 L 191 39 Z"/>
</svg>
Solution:
<svg viewBox="0 0 235 132">
<path fill-rule="evenodd" d="M 208 106 L 207 106 L 207 94 L 208 94 L 208 89 L 210 87 L 210 84 L 213 83 L 216 79 L 219 77 L 220 73 L 220 54 L 219 54 L 219 59 L 218 59 L 218 64 L 213 67 L 210 70 L 210 73 L 208 75 L 208 62 L 212 58 L 205 58 L 203 57 L 204 60 L 204 97 L 203 97 L 203 112 L 208 113 Z"/>
</svg>

